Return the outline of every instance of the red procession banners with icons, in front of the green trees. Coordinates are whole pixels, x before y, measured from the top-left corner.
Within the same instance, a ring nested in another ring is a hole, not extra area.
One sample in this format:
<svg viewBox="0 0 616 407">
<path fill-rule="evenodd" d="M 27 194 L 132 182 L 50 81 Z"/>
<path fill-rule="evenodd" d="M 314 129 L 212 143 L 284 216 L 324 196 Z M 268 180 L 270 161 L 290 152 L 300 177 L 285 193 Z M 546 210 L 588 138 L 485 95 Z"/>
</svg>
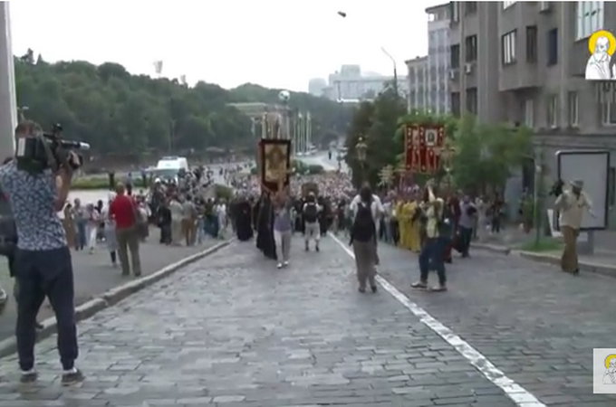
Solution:
<svg viewBox="0 0 616 407">
<path fill-rule="evenodd" d="M 434 174 L 440 166 L 439 151 L 445 141 L 445 128 L 408 125 L 404 133 L 404 163 L 415 174 Z"/>
</svg>

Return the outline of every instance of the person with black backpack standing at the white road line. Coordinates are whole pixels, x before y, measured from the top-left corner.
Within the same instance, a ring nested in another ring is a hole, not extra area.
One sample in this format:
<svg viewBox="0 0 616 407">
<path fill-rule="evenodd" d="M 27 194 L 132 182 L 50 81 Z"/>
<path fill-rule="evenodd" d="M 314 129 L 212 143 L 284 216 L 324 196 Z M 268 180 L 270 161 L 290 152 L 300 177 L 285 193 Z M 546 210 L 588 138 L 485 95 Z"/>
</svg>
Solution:
<svg viewBox="0 0 616 407">
<path fill-rule="evenodd" d="M 366 292 L 366 282 L 372 292 L 377 291 L 375 280 L 377 263 L 377 226 L 375 220 L 379 213 L 378 204 L 373 199 L 369 186 L 361 188 L 359 199 L 353 200 L 351 207 L 351 247 L 355 256 L 355 270 L 359 291 Z"/>
</svg>

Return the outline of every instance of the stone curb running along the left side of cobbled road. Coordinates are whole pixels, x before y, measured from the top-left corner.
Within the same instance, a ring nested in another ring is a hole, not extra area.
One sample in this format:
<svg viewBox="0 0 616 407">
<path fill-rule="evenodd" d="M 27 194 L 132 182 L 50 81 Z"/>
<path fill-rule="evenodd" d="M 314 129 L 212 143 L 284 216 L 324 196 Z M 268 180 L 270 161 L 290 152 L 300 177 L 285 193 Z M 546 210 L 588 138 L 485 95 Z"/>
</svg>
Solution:
<svg viewBox="0 0 616 407">
<path fill-rule="evenodd" d="M 94 314 L 100 312 L 105 308 L 110 308 L 119 303 L 122 299 L 130 297 L 132 294 L 151 286 L 161 279 L 165 279 L 178 270 L 183 269 L 191 263 L 197 260 L 201 260 L 204 257 L 214 254 L 215 252 L 228 246 L 234 239 L 222 241 L 215 246 L 212 246 L 205 251 L 199 251 L 192 254 L 182 260 L 178 260 L 175 263 L 155 271 L 152 274 L 141 277 L 140 279 L 134 279 L 125 284 L 122 284 L 113 289 L 109 289 L 103 292 L 98 298 L 93 298 L 90 301 L 84 302 L 82 305 L 75 307 L 75 324 L 92 317 Z M 43 329 L 36 332 L 36 342 L 43 340 L 49 336 L 52 336 L 56 332 L 57 322 L 55 317 L 49 317 L 42 322 Z M 13 355 L 17 349 L 17 342 L 14 336 L 6 338 L 0 341 L 0 357 Z"/>
</svg>

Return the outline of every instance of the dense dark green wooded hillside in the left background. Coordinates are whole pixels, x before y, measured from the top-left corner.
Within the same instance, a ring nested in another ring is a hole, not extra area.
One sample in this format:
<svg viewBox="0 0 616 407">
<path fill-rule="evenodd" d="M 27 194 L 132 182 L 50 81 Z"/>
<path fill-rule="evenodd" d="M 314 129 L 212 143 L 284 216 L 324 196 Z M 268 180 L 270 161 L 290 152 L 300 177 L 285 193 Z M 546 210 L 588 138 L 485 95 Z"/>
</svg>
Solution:
<svg viewBox="0 0 616 407">
<path fill-rule="evenodd" d="M 47 63 L 33 52 L 15 59 L 15 82 L 27 118 L 43 128 L 61 123 L 66 137 L 90 143 L 100 156 L 211 147 L 254 151 L 250 118 L 228 103 L 279 102 L 279 90 L 256 85 L 225 90 L 201 81 L 188 87 L 131 75 L 117 63 Z M 346 108 L 305 93 L 294 93 L 290 104 L 313 113 L 314 139 L 341 132 L 350 118 Z"/>
</svg>

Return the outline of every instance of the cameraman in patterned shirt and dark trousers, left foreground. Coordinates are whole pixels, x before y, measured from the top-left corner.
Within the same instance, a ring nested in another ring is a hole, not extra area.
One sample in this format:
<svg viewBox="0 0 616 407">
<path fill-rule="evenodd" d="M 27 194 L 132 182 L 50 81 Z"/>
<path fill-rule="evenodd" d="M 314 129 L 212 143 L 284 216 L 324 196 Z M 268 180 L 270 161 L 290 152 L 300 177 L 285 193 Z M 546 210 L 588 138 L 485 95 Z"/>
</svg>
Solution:
<svg viewBox="0 0 616 407">
<path fill-rule="evenodd" d="M 41 128 L 31 121 L 15 129 L 17 141 L 24 137 L 40 137 Z M 82 373 L 75 368 L 79 353 L 74 320 L 74 280 L 71 252 L 63 224 L 57 212 L 69 194 L 72 165 L 79 158 L 69 153 L 60 169 L 53 174 L 40 174 L 17 167 L 14 159 L 0 166 L 0 185 L 8 194 L 17 228 L 17 249 L 14 257 L 17 298 L 17 354 L 22 371 L 22 383 L 37 379 L 34 370 L 35 322 L 45 296 L 55 313 L 58 330 L 58 352 L 63 364 L 64 385 L 81 382 Z"/>
</svg>

